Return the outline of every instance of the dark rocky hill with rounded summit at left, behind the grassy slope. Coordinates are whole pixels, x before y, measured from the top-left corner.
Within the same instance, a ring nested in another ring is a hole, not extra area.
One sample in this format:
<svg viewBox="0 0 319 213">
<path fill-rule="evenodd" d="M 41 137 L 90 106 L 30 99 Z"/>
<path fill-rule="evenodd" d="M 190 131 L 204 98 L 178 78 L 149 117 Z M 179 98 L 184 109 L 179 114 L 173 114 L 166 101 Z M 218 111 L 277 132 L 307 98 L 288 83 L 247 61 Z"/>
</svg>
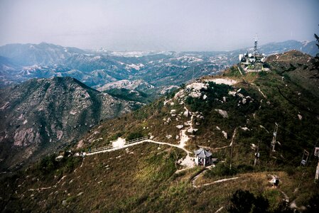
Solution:
<svg viewBox="0 0 319 213">
<path fill-rule="evenodd" d="M 101 119 L 130 111 L 134 104 L 98 92 L 71 77 L 29 80 L 1 89 L 0 158 L 13 158 L 18 163 L 27 150 L 31 151 L 28 156 L 34 151 L 53 151 L 76 140 Z M 16 154 L 12 155 L 8 148 Z"/>
</svg>

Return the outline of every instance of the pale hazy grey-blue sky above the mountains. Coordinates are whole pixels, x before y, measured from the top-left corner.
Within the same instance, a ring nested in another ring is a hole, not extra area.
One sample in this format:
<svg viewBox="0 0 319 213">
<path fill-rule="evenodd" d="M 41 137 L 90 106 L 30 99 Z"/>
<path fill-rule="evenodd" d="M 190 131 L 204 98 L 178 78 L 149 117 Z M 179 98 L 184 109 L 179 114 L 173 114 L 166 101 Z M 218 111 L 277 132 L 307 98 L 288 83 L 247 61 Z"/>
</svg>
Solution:
<svg viewBox="0 0 319 213">
<path fill-rule="evenodd" d="M 0 0 L 0 45 L 232 50 L 314 40 L 319 0 Z"/>
</svg>

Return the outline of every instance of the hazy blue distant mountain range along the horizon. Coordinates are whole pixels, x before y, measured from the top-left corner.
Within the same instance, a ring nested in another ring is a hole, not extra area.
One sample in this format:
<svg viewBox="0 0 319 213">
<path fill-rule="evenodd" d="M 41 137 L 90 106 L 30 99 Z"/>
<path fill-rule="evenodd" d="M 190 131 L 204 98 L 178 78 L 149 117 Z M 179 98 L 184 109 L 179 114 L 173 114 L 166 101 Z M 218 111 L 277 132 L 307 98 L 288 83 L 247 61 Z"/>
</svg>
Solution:
<svg viewBox="0 0 319 213">
<path fill-rule="evenodd" d="M 318 51 L 314 41 L 296 40 L 269 43 L 259 48 L 266 55 L 293 49 L 310 55 Z M 119 80 L 144 80 L 156 88 L 167 88 L 202 75 L 215 75 L 237 63 L 239 53 L 247 50 L 249 48 L 181 53 L 112 52 L 103 49 L 80 50 L 48 43 L 9 44 L 0 47 L 0 87 L 31 78 L 74 77 L 96 89 Z"/>
</svg>

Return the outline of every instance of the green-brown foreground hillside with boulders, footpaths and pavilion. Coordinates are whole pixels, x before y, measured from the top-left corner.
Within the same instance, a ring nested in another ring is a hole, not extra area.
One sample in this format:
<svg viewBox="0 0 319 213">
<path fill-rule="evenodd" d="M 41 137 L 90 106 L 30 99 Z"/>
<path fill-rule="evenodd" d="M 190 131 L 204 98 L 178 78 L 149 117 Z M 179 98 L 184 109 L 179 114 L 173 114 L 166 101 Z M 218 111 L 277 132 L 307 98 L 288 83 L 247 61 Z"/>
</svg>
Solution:
<svg viewBox="0 0 319 213">
<path fill-rule="evenodd" d="M 235 65 L 222 76 L 201 77 L 131 114 L 105 121 L 70 149 L 92 151 L 119 137 L 148 136 L 153 142 L 85 158 L 65 156 L 59 162 L 53 155 L 21 173 L 6 173 L 1 210 L 227 212 L 233 193 L 241 189 L 268 200 L 264 212 L 306 211 L 318 193 L 313 148 L 319 138 L 319 98 L 315 87 L 310 90 L 298 80 L 315 80 L 310 76 L 313 58 L 305 67 L 303 57 L 310 56 L 290 57 L 298 70 L 293 75 L 283 72 L 290 67 L 282 60 L 267 62 L 269 71 L 243 75 Z M 275 123 L 279 143 L 271 152 Z M 189 138 L 185 146 L 183 137 Z M 261 157 L 254 166 L 252 147 L 257 144 Z M 193 153 L 199 147 L 218 158 L 216 167 L 182 170 L 180 158 L 188 155 L 183 148 Z M 301 166 L 305 149 L 310 158 Z M 279 177 L 278 188 L 271 187 L 271 175 Z"/>
</svg>

